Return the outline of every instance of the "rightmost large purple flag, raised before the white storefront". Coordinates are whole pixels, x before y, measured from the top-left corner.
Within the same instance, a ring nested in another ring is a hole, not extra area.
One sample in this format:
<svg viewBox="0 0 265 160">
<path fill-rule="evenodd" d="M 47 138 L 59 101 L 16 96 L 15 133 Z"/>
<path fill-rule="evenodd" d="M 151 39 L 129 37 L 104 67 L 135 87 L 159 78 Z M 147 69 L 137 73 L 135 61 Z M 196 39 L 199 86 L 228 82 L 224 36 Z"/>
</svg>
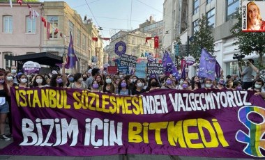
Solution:
<svg viewBox="0 0 265 160">
<path fill-rule="evenodd" d="M 216 60 L 206 49 L 202 49 L 201 58 L 199 58 L 199 77 L 214 80 L 215 79 Z"/>
</svg>

